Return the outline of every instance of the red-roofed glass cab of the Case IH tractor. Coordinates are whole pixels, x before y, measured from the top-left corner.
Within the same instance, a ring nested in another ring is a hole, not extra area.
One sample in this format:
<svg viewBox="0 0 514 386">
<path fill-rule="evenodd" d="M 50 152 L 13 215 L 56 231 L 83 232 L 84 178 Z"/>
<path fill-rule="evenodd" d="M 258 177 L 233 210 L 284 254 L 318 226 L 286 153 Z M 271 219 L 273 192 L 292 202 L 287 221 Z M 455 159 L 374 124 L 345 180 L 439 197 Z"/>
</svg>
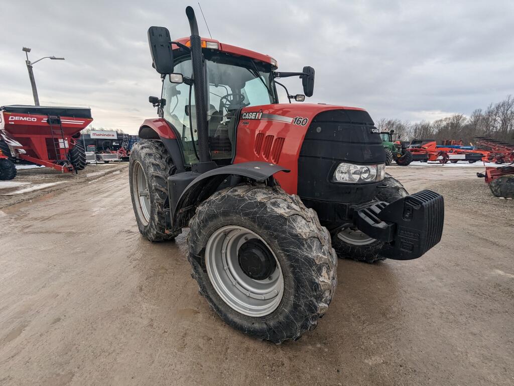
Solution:
<svg viewBox="0 0 514 386">
<path fill-rule="evenodd" d="M 228 165 L 235 156 L 236 129 L 241 110 L 279 103 L 278 82 L 274 78 L 306 78 L 303 82 L 307 85 L 304 92 L 311 96 L 314 69 L 304 67 L 302 73 L 277 73 L 274 71 L 277 61 L 270 56 L 213 39 L 200 39 L 205 68 L 210 158 L 217 165 Z M 189 38 L 181 38 L 173 43 L 173 73 L 162 78 L 162 94 L 158 99 L 159 115 L 176 129 L 180 138 L 185 165 L 200 161 L 190 46 Z M 287 96 L 289 101 L 293 98 L 298 101 L 305 99 L 303 94 L 292 96 L 287 92 Z"/>
</svg>

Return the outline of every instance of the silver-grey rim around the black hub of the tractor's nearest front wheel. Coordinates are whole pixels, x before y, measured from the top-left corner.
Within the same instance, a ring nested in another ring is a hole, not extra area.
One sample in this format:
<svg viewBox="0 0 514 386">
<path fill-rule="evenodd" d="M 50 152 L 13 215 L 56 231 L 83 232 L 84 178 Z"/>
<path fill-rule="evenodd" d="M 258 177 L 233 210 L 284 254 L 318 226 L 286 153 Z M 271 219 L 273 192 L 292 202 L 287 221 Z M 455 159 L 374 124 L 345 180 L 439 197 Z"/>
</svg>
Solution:
<svg viewBox="0 0 514 386">
<path fill-rule="evenodd" d="M 276 263 L 270 276 L 263 280 L 249 277 L 238 260 L 241 246 L 252 239 L 262 241 Z M 284 293 L 279 261 L 266 241 L 249 229 L 229 225 L 215 231 L 207 242 L 205 265 L 217 294 L 235 311 L 250 317 L 263 317 L 279 306 Z"/>
</svg>

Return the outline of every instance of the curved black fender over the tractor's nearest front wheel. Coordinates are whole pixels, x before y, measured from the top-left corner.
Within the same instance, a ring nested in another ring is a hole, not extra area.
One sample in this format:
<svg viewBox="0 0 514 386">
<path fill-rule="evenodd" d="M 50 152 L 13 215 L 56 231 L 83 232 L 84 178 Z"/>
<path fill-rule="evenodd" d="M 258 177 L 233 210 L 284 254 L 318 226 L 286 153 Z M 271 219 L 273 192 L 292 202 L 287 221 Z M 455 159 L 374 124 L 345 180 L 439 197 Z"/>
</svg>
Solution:
<svg viewBox="0 0 514 386">
<path fill-rule="evenodd" d="M 187 226 L 191 217 L 195 213 L 196 207 L 207 198 L 209 198 L 221 185 L 221 183 L 229 176 L 246 177 L 254 181 L 266 181 L 273 174 L 290 170 L 282 166 L 270 164 L 267 162 L 252 161 L 242 162 L 240 164 L 227 165 L 216 169 L 209 170 L 202 174 L 196 173 L 180 173 L 168 178 L 168 188 L 170 195 L 170 207 L 172 208 L 172 224 L 175 229 Z M 189 185 L 180 194 L 180 198 L 173 205 L 173 197 L 178 196 L 176 187 L 180 186 L 180 181 L 194 178 Z M 176 181 L 175 181 L 176 180 Z M 175 187 L 175 189 L 174 189 Z"/>
</svg>

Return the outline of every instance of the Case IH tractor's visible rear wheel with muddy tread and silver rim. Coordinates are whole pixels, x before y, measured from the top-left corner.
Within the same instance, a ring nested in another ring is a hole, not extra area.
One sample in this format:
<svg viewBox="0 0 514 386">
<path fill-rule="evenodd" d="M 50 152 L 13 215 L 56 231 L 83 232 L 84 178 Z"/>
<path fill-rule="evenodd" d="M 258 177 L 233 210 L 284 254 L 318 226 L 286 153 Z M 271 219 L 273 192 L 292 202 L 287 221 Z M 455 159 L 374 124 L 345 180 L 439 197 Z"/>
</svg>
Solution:
<svg viewBox="0 0 514 386">
<path fill-rule="evenodd" d="M 168 197 L 168 176 L 176 168 L 160 141 L 143 140 L 132 148 L 128 180 L 139 232 L 150 241 L 173 240 L 178 233 L 166 233 L 164 203 Z"/>
</svg>

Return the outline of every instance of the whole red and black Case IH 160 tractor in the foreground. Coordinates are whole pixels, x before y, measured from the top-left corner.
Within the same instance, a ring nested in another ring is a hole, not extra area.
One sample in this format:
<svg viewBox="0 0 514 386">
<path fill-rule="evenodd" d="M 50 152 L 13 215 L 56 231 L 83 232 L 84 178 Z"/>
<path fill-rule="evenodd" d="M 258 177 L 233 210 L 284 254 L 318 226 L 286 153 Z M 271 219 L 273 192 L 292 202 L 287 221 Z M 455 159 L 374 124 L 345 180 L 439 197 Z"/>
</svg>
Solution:
<svg viewBox="0 0 514 386">
<path fill-rule="evenodd" d="M 280 343 L 313 329 L 336 288 L 337 257 L 415 259 L 443 231 L 443 197 L 408 195 L 385 173 L 379 131 L 363 109 L 279 103 L 277 61 L 150 27 L 161 98 L 130 156 L 139 231 L 172 240 L 189 226 L 192 277 L 230 326 Z"/>
</svg>

